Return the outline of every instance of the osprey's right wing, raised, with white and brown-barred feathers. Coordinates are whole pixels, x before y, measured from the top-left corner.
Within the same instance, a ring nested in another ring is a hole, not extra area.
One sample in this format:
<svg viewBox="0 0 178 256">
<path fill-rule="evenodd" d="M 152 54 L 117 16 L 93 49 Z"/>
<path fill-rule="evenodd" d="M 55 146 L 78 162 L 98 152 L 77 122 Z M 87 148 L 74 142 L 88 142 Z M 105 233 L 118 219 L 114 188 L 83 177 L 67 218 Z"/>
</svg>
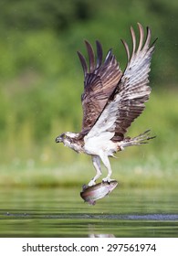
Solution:
<svg viewBox="0 0 178 256">
<path fill-rule="evenodd" d="M 131 55 L 127 43 L 122 41 L 128 57 L 127 67 L 88 137 L 107 133 L 112 140 L 122 140 L 127 128 L 145 108 L 144 102 L 148 101 L 151 93 L 148 77 L 154 45 L 150 47 L 151 29 L 147 27 L 147 36 L 143 43 L 144 31 L 141 24 L 138 23 L 138 27 L 139 46 L 136 49 L 136 37 L 131 27 Z"/>
</svg>

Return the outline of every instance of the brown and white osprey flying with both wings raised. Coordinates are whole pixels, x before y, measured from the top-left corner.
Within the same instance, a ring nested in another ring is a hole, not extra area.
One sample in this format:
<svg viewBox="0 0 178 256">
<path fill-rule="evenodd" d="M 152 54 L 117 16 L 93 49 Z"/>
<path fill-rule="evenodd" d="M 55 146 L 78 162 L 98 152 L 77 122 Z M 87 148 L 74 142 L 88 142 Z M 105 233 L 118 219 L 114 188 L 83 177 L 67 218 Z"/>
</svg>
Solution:
<svg viewBox="0 0 178 256">
<path fill-rule="evenodd" d="M 89 67 L 84 56 L 78 52 L 84 71 L 84 92 L 81 95 L 83 122 L 80 133 L 62 133 L 56 138 L 78 153 L 91 155 L 96 176 L 89 181 L 89 186 L 96 184 L 101 175 L 100 160 L 108 170 L 103 181 L 111 181 L 109 156 L 123 150 L 127 146 L 146 144 L 155 136 L 150 130 L 134 138 L 125 137 L 128 127 L 144 110 L 144 102 L 148 101 L 151 88 L 149 72 L 154 42 L 151 42 L 151 29 L 144 31 L 138 23 L 140 39 L 136 46 L 136 36 L 131 27 L 132 51 L 128 44 L 121 40 L 127 53 L 127 65 L 122 73 L 120 64 L 110 49 L 103 61 L 102 47 L 96 41 L 97 58 L 93 48 L 85 41 L 89 54 Z"/>
</svg>

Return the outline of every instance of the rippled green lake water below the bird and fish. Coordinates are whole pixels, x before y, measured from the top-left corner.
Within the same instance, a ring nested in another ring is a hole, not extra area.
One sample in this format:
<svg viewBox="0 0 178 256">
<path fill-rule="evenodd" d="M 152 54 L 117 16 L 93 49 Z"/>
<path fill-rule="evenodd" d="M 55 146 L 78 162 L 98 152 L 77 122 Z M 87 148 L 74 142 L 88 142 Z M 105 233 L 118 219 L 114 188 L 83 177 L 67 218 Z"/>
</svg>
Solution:
<svg viewBox="0 0 178 256">
<path fill-rule="evenodd" d="M 178 237 L 178 189 L 116 187 L 95 206 L 80 187 L 0 190 L 0 237 Z"/>
</svg>

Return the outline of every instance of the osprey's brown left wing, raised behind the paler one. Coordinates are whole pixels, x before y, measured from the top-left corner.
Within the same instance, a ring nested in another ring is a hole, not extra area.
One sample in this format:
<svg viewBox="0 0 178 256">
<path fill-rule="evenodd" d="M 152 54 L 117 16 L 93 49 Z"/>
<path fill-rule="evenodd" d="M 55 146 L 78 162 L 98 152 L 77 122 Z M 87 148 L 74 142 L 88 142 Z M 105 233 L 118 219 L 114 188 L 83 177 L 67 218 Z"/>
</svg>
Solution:
<svg viewBox="0 0 178 256">
<path fill-rule="evenodd" d="M 85 43 L 89 54 L 89 68 L 86 59 L 78 52 L 85 79 L 84 92 L 81 95 L 83 122 L 80 134 L 83 135 L 89 133 L 89 130 L 96 123 L 122 75 L 119 63 L 111 49 L 102 63 L 102 47 L 99 41 L 96 41 L 97 63 L 95 63 L 93 48 L 88 41 Z"/>
</svg>

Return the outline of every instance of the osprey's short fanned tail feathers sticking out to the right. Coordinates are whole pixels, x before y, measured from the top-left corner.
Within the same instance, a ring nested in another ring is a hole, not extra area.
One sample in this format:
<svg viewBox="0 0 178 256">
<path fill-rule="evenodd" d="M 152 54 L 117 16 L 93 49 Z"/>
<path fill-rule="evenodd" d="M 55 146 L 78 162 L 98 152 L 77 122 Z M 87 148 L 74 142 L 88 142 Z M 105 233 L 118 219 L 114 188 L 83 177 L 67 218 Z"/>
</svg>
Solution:
<svg viewBox="0 0 178 256">
<path fill-rule="evenodd" d="M 138 135 L 136 137 L 125 138 L 123 141 L 121 141 L 119 143 L 121 150 L 124 149 L 124 147 L 131 146 L 131 145 L 148 144 L 149 140 L 152 140 L 156 137 L 156 136 L 151 136 L 150 132 L 151 132 L 151 130 L 147 130 L 144 133 L 141 133 L 140 135 Z"/>
</svg>

